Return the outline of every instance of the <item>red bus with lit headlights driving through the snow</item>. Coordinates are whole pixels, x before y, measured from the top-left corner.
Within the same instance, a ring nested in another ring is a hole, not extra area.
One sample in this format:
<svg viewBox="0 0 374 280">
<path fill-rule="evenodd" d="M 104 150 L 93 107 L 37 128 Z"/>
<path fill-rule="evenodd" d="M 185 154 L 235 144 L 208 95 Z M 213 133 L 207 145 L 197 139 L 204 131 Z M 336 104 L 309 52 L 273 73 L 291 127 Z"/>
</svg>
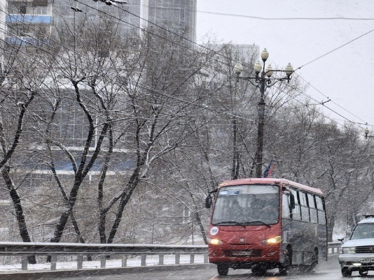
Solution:
<svg viewBox="0 0 374 280">
<path fill-rule="evenodd" d="M 312 270 L 327 259 L 323 194 L 286 179 L 250 178 L 224 181 L 206 206 L 213 206 L 209 226 L 209 262 L 218 274 L 250 268 L 254 274 L 291 265 Z"/>
</svg>

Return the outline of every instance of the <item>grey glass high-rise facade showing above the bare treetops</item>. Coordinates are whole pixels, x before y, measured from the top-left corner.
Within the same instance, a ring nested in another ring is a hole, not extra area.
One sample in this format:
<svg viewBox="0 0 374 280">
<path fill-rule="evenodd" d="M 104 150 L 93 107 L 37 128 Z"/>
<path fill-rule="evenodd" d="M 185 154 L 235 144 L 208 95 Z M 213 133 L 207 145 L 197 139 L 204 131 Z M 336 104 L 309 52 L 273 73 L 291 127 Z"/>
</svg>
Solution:
<svg viewBox="0 0 374 280">
<path fill-rule="evenodd" d="M 114 4 L 107 5 L 108 1 Z M 89 18 L 87 24 L 98 23 L 106 17 L 119 25 L 123 36 L 134 29 L 140 33 L 145 28 L 162 27 L 195 42 L 197 0 L 127 0 L 127 4 L 110 1 L 77 0 L 74 7 L 82 11 L 77 12 L 65 0 L 55 0 L 55 27 L 58 29 L 66 24 L 71 27 L 82 17 Z"/>
</svg>

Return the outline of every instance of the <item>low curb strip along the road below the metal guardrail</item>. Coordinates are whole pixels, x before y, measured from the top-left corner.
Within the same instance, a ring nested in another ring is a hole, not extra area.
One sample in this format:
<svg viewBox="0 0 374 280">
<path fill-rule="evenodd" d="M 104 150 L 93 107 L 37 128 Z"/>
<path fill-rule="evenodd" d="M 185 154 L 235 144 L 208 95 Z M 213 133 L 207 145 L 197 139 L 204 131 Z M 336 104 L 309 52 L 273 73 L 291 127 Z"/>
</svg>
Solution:
<svg viewBox="0 0 374 280">
<path fill-rule="evenodd" d="M 109 275 L 121 273 L 136 273 L 149 271 L 163 271 L 163 270 L 178 270 L 178 269 L 200 269 L 212 268 L 216 265 L 213 263 L 188 263 L 178 265 L 155 265 L 155 266 L 133 266 L 133 267 L 115 267 L 115 268 L 87 268 L 75 270 L 47 270 L 47 271 L 15 271 L 15 272 L 0 272 L 0 280 L 37 280 L 46 277 L 74 277 L 74 276 L 88 276 L 88 275 Z"/>
</svg>

